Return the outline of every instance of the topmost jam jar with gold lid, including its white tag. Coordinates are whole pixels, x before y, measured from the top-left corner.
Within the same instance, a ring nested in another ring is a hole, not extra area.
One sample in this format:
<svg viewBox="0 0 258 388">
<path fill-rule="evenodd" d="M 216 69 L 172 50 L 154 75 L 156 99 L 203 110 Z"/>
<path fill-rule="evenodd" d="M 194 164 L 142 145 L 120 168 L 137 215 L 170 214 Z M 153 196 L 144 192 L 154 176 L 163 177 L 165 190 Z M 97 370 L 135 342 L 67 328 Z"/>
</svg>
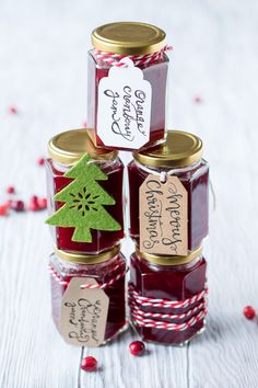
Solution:
<svg viewBox="0 0 258 388">
<path fill-rule="evenodd" d="M 137 22 L 110 23 L 93 31 L 87 125 L 98 147 L 137 150 L 164 138 L 165 52 L 169 49 L 165 37 L 161 28 Z"/>
</svg>

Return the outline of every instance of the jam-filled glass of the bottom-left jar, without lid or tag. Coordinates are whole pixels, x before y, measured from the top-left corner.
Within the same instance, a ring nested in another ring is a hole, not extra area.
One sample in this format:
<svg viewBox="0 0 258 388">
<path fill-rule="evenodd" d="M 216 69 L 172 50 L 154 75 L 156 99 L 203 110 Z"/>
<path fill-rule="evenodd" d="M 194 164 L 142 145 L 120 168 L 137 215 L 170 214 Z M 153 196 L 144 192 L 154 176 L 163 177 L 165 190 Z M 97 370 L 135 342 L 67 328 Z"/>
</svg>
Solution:
<svg viewBox="0 0 258 388">
<path fill-rule="evenodd" d="M 104 263 L 86 265 L 70 264 L 64 261 L 59 261 L 52 255 L 50 264 L 54 266 L 54 270 L 57 272 L 61 281 L 70 282 L 73 277 L 87 276 L 94 277 L 98 283 L 103 284 L 113 278 L 116 265 L 124 264 L 116 271 L 116 275 L 125 270 L 126 259 L 119 253 Z M 58 329 L 60 324 L 61 300 L 67 287 L 68 285 L 59 284 L 51 276 L 52 318 Z M 109 298 L 105 340 L 109 340 L 126 324 L 125 276 L 105 288 L 105 293 Z"/>
</svg>

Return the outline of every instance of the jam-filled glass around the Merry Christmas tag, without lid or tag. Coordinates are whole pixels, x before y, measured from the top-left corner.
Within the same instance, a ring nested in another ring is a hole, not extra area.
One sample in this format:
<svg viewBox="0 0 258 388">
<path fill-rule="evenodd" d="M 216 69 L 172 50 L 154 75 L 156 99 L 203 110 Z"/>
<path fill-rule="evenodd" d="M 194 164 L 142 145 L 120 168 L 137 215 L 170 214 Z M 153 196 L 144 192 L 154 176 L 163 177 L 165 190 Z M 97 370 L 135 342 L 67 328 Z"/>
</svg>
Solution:
<svg viewBox="0 0 258 388">
<path fill-rule="evenodd" d="M 171 170 L 169 168 L 150 168 L 153 171 Z M 132 160 L 128 166 L 130 193 L 130 237 L 139 246 L 139 191 L 148 176 L 148 172 L 138 167 Z M 208 235 L 208 184 L 209 168 L 201 160 L 196 167 L 189 167 L 187 172 L 177 172 L 176 175 L 188 193 L 188 249 L 195 250 Z"/>
</svg>

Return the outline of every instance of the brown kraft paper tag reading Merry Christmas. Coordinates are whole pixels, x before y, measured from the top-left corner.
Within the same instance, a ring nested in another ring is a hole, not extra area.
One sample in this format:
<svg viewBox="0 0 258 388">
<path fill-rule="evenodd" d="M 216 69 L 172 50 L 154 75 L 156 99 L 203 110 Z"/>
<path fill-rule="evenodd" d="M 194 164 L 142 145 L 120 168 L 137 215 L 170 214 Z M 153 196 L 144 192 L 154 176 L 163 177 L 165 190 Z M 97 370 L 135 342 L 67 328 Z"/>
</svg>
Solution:
<svg viewBox="0 0 258 388">
<path fill-rule="evenodd" d="M 188 254 L 187 191 L 178 176 L 148 175 L 140 187 L 140 251 Z"/>
</svg>

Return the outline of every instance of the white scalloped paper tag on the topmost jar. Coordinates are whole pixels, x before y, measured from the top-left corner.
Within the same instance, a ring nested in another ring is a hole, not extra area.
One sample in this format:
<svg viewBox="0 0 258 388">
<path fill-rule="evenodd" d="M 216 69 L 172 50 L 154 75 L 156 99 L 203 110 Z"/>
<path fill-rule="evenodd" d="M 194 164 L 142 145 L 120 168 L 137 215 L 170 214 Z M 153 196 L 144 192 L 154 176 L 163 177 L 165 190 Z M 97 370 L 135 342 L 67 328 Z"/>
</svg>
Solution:
<svg viewBox="0 0 258 388">
<path fill-rule="evenodd" d="M 98 85 L 97 136 L 108 147 L 138 149 L 150 140 L 152 89 L 129 58 Z"/>
</svg>

